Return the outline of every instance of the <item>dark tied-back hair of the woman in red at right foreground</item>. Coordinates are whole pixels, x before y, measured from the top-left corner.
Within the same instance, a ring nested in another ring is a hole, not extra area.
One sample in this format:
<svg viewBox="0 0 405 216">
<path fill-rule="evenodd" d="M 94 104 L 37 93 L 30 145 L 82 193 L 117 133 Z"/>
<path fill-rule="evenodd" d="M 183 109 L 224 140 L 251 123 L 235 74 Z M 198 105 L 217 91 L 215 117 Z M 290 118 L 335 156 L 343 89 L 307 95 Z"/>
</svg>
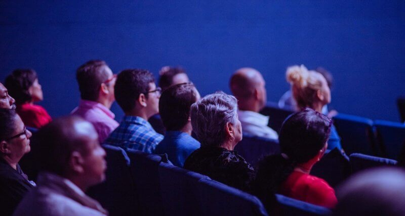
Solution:
<svg viewBox="0 0 405 216">
<path fill-rule="evenodd" d="M 278 136 L 282 154 L 268 155 L 259 161 L 254 193 L 267 208 L 274 205 L 278 192 L 294 168 L 316 156 L 329 139 L 332 121 L 309 108 L 289 116 Z"/>
</svg>

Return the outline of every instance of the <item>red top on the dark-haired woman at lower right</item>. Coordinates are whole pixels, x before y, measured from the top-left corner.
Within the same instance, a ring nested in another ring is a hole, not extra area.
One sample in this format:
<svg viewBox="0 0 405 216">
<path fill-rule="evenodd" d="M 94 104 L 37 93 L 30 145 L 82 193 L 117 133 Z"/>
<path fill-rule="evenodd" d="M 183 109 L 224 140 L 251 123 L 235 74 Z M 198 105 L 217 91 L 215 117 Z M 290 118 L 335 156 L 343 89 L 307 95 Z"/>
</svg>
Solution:
<svg viewBox="0 0 405 216">
<path fill-rule="evenodd" d="M 281 185 L 282 195 L 332 208 L 338 202 L 335 190 L 320 178 L 294 171 Z"/>
</svg>

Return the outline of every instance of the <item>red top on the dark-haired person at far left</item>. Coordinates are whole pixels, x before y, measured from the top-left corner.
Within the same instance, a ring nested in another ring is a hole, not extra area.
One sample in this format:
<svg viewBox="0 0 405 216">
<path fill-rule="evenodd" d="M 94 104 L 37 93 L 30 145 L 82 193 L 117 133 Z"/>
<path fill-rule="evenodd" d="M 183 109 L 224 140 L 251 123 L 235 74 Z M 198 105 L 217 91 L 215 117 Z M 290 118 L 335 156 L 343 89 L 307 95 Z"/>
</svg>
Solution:
<svg viewBox="0 0 405 216">
<path fill-rule="evenodd" d="M 17 105 L 16 111 L 28 127 L 41 128 L 52 121 L 48 112 L 40 105 L 24 103 Z"/>
</svg>

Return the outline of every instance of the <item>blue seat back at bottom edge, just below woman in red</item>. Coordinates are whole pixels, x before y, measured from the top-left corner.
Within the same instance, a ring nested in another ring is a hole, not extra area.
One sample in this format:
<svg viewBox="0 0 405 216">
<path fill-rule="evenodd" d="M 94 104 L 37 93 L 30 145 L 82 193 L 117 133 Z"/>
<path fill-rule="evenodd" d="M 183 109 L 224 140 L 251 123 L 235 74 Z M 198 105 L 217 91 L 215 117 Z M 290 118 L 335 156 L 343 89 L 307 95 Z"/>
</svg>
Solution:
<svg viewBox="0 0 405 216">
<path fill-rule="evenodd" d="M 287 196 L 276 194 L 277 202 L 280 206 L 281 215 L 284 216 L 312 216 L 330 215 L 332 211 L 326 207 L 310 204 Z"/>
</svg>

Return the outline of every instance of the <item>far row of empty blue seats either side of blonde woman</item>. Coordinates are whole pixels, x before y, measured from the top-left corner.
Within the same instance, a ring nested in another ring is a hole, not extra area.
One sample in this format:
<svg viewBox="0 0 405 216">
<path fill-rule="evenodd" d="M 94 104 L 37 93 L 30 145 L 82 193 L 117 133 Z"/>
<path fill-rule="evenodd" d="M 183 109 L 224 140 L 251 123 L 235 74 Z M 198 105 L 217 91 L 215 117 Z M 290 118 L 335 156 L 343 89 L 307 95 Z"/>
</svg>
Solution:
<svg viewBox="0 0 405 216">
<path fill-rule="evenodd" d="M 279 131 L 282 122 L 294 111 L 268 102 L 261 113 L 270 116 L 269 127 Z M 405 124 L 402 123 L 372 121 L 346 114 L 338 114 L 333 121 L 347 154 L 359 152 L 397 159 L 405 141 Z"/>
</svg>

